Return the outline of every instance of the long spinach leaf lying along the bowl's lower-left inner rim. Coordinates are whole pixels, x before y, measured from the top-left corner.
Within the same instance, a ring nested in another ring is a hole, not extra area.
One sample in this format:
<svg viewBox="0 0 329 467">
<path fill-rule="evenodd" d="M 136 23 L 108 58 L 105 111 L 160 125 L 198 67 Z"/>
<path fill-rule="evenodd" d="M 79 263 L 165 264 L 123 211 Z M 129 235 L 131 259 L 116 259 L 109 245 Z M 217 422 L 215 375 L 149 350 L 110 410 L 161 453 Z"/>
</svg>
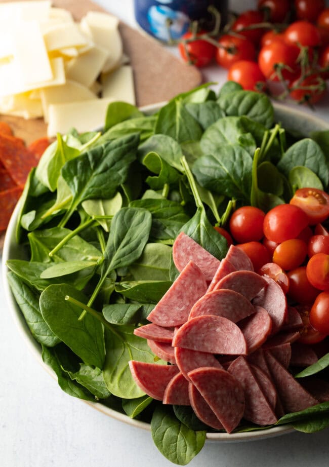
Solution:
<svg viewBox="0 0 329 467">
<path fill-rule="evenodd" d="M 50 329 L 40 312 L 39 294 L 30 289 L 11 271 L 7 273 L 7 278 L 11 291 L 22 310 L 27 326 L 34 339 L 48 347 L 58 344 L 60 339 Z"/>
</svg>

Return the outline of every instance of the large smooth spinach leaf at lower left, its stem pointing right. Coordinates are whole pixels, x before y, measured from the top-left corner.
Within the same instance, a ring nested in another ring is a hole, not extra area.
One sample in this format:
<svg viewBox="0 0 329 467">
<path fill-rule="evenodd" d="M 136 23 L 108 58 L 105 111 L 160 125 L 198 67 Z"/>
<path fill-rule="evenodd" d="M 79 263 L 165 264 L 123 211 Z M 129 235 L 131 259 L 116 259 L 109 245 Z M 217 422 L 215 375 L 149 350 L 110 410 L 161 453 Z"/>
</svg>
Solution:
<svg viewBox="0 0 329 467">
<path fill-rule="evenodd" d="M 65 296 L 87 303 L 87 297 L 67 284 L 50 285 L 40 295 L 43 318 L 54 332 L 86 364 L 102 368 L 105 358 L 104 329 L 92 315 L 79 321 L 81 309 Z"/>
</svg>

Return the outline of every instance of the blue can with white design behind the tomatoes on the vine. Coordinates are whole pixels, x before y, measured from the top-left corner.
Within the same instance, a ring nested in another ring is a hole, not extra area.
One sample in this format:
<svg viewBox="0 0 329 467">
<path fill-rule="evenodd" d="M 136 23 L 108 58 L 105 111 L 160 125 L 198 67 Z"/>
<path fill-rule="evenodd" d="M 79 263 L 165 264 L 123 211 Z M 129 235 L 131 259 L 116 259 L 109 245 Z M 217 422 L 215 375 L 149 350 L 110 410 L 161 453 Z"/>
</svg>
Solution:
<svg viewBox="0 0 329 467">
<path fill-rule="evenodd" d="M 179 39 L 191 21 L 200 21 L 210 30 L 214 18 L 208 11 L 213 5 L 221 14 L 221 25 L 227 20 L 227 0 L 134 0 L 137 23 L 160 41 Z"/>
</svg>

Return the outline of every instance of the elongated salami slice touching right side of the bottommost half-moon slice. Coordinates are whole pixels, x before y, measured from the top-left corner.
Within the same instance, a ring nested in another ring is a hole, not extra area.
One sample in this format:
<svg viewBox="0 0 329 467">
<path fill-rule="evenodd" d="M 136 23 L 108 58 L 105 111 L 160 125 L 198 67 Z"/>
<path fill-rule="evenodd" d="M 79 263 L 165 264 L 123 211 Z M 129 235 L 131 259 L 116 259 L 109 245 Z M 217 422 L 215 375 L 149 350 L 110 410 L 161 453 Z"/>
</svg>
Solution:
<svg viewBox="0 0 329 467">
<path fill-rule="evenodd" d="M 277 418 L 273 408 L 245 358 L 235 359 L 228 371 L 241 383 L 244 391 L 243 418 L 259 425 L 275 423 Z"/>
</svg>

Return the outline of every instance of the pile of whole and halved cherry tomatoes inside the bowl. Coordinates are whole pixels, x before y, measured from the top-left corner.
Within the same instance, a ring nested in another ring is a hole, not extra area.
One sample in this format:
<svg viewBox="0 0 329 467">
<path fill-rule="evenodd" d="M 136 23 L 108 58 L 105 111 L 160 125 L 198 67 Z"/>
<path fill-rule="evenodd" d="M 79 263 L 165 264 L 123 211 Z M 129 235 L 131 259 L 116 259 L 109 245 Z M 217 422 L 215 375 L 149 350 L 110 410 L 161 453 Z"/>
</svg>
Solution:
<svg viewBox="0 0 329 467">
<path fill-rule="evenodd" d="M 329 196 L 315 188 L 296 191 L 289 204 L 266 214 L 253 206 L 238 208 L 228 229 L 216 227 L 235 243 L 254 269 L 274 279 L 299 310 L 300 341 L 316 343 L 329 335 Z"/>
</svg>

